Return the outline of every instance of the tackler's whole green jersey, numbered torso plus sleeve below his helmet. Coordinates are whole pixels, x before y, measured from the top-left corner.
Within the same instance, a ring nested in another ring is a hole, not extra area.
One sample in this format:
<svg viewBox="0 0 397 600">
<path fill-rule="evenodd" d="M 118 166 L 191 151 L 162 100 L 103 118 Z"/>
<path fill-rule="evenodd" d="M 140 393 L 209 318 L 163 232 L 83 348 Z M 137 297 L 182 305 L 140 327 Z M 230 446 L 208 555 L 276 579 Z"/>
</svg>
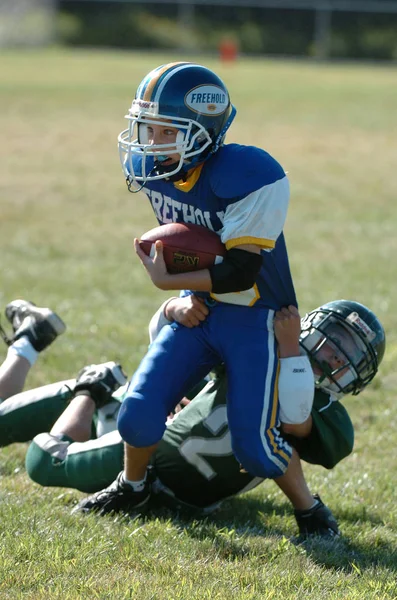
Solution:
<svg viewBox="0 0 397 600">
<path fill-rule="evenodd" d="M 207 507 L 262 480 L 244 472 L 232 453 L 226 377 L 210 382 L 167 428 L 153 464 L 161 482 L 183 502 Z M 313 427 L 305 439 L 284 436 L 301 458 L 332 468 L 350 454 L 354 430 L 339 402 L 316 390 Z"/>
</svg>

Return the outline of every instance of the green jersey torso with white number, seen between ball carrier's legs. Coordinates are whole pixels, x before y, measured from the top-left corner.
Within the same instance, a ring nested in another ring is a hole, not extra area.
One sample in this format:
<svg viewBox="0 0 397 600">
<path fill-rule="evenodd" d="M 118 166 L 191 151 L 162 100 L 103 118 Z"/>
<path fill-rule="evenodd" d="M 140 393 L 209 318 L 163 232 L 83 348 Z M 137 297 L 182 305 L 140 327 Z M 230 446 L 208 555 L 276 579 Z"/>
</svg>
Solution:
<svg viewBox="0 0 397 600">
<path fill-rule="evenodd" d="M 183 502 L 204 507 L 251 489 L 262 480 L 235 459 L 226 412 L 226 377 L 208 383 L 177 414 L 156 450 L 160 481 Z"/>
</svg>

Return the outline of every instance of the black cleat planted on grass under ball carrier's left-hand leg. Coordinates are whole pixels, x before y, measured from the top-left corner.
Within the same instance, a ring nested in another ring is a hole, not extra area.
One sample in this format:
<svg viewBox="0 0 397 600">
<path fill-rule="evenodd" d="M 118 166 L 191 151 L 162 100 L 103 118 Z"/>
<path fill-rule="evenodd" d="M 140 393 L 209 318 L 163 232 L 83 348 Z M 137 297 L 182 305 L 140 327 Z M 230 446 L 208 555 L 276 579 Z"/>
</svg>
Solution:
<svg viewBox="0 0 397 600">
<path fill-rule="evenodd" d="M 148 481 L 145 482 L 142 491 L 134 491 L 128 483 L 124 482 L 123 471 L 121 471 L 109 487 L 81 500 L 72 510 L 72 514 L 79 512 L 96 512 L 99 515 L 111 512 L 138 514 L 146 508 L 150 492 L 151 486 Z"/>
</svg>

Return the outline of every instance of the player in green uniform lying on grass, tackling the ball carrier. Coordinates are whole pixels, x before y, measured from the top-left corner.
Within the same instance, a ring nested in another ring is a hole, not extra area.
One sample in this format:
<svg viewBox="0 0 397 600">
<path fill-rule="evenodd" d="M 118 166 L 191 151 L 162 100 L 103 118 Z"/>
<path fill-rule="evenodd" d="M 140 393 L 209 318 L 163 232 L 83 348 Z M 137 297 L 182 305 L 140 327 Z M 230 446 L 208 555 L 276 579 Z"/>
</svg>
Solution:
<svg viewBox="0 0 397 600">
<path fill-rule="evenodd" d="M 152 335 L 174 319 L 194 327 L 205 318 L 203 306 L 194 298 L 172 299 L 152 320 Z M 34 323 L 28 333 L 31 329 Z M 333 468 L 350 454 L 354 442 L 352 423 L 339 399 L 347 393 L 358 394 L 374 377 L 384 352 L 384 331 L 366 307 L 345 300 L 309 313 L 302 320 L 300 338 L 299 331 L 294 307 L 277 313 L 282 431 L 303 460 Z M 298 382 L 303 381 L 299 375 L 307 359 L 297 356 L 298 338 L 316 376 L 314 402 L 307 378 L 299 390 Z M 294 370 L 298 378 L 291 377 Z M 117 431 L 89 438 L 116 427 L 125 388 L 115 390 L 123 381 L 120 366 L 105 363 L 83 369 L 77 382 L 59 382 L 9 398 L 0 404 L 0 443 L 31 439 L 39 429 L 43 433 L 34 438 L 26 459 L 34 481 L 85 492 L 103 488 L 122 469 L 122 441 Z M 1 389 L 0 379 L 0 393 Z M 263 481 L 244 472 L 232 454 L 226 398 L 227 380 L 220 367 L 194 401 L 169 423 L 152 461 L 154 489 L 167 504 L 208 514 L 225 498 Z M 301 489 L 284 478 L 275 482 L 294 507 L 300 534 L 337 535 L 336 521 L 321 499 L 312 496 L 307 486 Z M 303 508 L 308 494 L 311 505 Z M 90 498 L 76 510 L 85 512 L 87 507 Z"/>
</svg>

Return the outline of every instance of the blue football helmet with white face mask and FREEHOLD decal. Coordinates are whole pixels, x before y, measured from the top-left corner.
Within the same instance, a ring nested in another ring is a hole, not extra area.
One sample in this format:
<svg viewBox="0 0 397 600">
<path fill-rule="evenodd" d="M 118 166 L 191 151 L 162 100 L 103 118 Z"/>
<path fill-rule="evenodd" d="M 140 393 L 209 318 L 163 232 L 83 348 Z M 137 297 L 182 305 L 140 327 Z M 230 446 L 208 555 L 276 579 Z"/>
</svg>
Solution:
<svg viewBox="0 0 397 600">
<path fill-rule="evenodd" d="M 225 84 L 210 69 L 177 62 L 151 71 L 126 115 L 129 126 L 118 137 L 130 191 L 142 188 L 146 181 L 183 179 L 218 150 L 235 114 Z M 148 129 L 165 123 L 178 130 L 176 140 L 153 144 Z M 169 155 L 179 159 L 165 166 Z"/>
</svg>

